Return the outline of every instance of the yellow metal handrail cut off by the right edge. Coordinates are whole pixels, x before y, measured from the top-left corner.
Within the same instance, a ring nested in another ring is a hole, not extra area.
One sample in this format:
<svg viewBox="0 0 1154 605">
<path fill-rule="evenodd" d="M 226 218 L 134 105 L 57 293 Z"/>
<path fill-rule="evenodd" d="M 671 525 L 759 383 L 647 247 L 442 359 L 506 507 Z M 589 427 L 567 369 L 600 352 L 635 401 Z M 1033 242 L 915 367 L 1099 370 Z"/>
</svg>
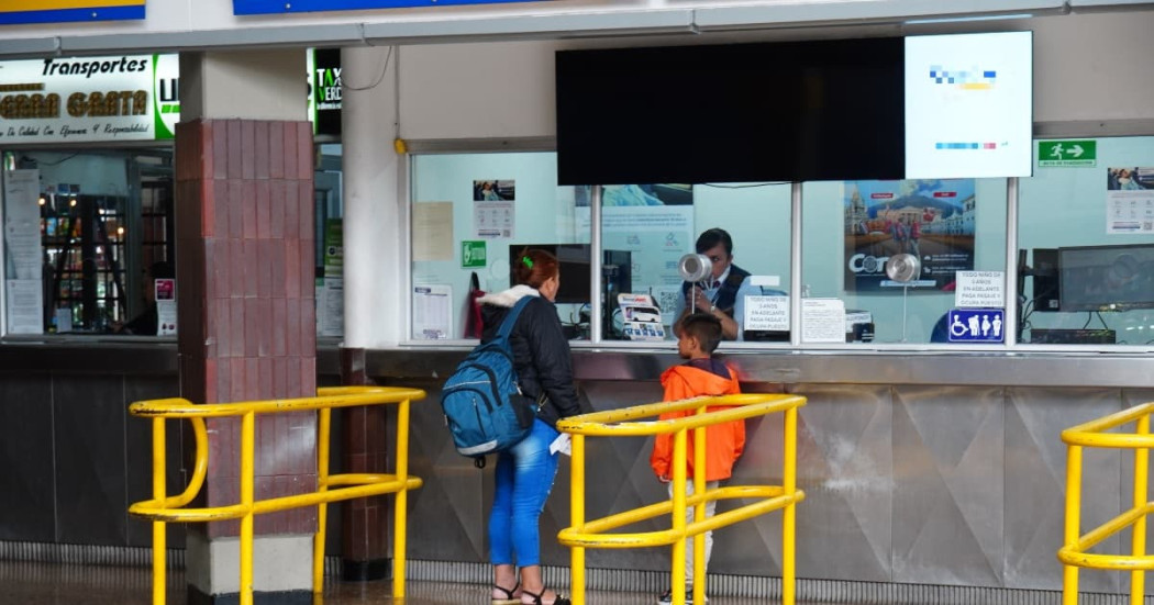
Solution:
<svg viewBox="0 0 1154 605">
<path fill-rule="evenodd" d="M 1154 447 L 1154 436 L 1149 434 L 1151 414 L 1154 414 L 1154 403 L 1142 403 L 1062 431 L 1062 441 L 1066 444 L 1066 521 L 1064 545 L 1058 550 L 1058 560 L 1063 564 L 1063 605 L 1078 603 L 1078 569 L 1081 567 L 1129 569 L 1130 603 L 1131 605 L 1142 603 L 1146 570 L 1154 569 L 1154 555 L 1146 554 L 1146 516 L 1154 512 L 1154 502 L 1148 501 L 1147 494 L 1149 449 Z M 1130 423 L 1134 423 L 1132 433 L 1106 432 Z M 1130 509 L 1094 528 L 1085 536 L 1079 536 L 1084 447 L 1133 449 L 1134 484 Z M 1130 527 L 1133 528 L 1131 554 L 1086 552 Z"/>
</svg>

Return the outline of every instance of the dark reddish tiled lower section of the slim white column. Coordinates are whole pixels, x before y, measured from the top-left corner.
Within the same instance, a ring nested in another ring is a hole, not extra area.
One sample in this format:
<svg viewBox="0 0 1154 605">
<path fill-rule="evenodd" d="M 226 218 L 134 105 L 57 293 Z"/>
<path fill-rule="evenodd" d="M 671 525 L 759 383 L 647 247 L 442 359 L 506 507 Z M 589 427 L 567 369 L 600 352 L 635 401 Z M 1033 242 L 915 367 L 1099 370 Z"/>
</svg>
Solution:
<svg viewBox="0 0 1154 605">
<path fill-rule="evenodd" d="M 368 385 L 365 349 L 340 349 L 340 378 L 345 385 Z M 385 472 L 388 443 L 385 406 L 342 410 L 344 430 L 344 471 Z M 389 511 L 392 499 L 385 496 L 358 498 L 344 502 L 342 516 L 340 577 L 362 582 L 389 575 Z"/>
</svg>

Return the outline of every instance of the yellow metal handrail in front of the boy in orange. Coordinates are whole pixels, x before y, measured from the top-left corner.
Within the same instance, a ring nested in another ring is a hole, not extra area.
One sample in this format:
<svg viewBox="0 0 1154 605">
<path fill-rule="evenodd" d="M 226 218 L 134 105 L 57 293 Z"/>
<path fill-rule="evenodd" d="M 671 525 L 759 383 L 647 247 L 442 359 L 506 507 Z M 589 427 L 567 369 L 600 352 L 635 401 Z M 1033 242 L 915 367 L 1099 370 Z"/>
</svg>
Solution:
<svg viewBox="0 0 1154 605">
<path fill-rule="evenodd" d="M 572 600 L 585 605 L 585 549 L 640 549 L 673 545 L 673 603 L 685 603 L 685 538 L 694 537 L 694 577 L 705 577 L 705 532 L 782 509 L 781 519 L 781 602 L 794 603 L 794 542 L 796 505 L 805 493 L 796 489 L 797 408 L 805 398 L 796 395 L 741 394 L 695 398 L 676 402 L 646 403 L 624 409 L 597 411 L 565 418 L 557 429 L 572 438 L 570 493 L 571 527 L 559 534 L 561 544 L 572 553 Z M 720 410 L 709 408 L 732 406 Z M 694 411 L 669 421 L 646 421 L 665 411 Z M 694 494 L 685 496 L 688 432 L 694 433 L 694 468 L 705 468 L 705 428 L 766 414 L 784 413 L 782 484 L 730 485 L 705 489 L 704 474 L 694 477 Z M 673 433 L 673 498 L 591 521 L 585 520 L 585 437 L 625 437 Z M 705 504 L 713 500 L 745 498 L 756 501 L 739 508 L 705 516 Z M 694 507 L 694 522 L 685 522 L 685 511 Z M 672 527 L 660 531 L 604 534 L 660 515 L 670 515 Z M 705 603 L 705 582 L 694 582 L 694 603 Z"/>
</svg>

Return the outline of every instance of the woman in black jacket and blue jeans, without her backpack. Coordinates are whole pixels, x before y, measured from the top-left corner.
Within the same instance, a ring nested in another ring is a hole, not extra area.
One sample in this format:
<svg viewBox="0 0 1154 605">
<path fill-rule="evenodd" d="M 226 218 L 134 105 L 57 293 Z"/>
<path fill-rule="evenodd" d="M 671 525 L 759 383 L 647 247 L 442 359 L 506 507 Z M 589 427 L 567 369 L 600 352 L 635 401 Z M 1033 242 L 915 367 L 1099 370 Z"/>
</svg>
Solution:
<svg viewBox="0 0 1154 605">
<path fill-rule="evenodd" d="M 579 414 L 569 341 L 553 307 L 561 274 L 556 257 L 525 249 L 514 259 L 514 275 L 517 286 L 479 298 L 485 320 L 481 340 L 496 335 L 517 301 L 533 297 L 517 317 L 509 341 L 522 392 L 544 403 L 529 436 L 497 456 L 489 514 L 493 605 L 569 605 L 569 599 L 546 590 L 541 580 L 538 527 L 557 472 L 557 452 L 549 448 L 561 436 L 557 419 Z"/>
</svg>

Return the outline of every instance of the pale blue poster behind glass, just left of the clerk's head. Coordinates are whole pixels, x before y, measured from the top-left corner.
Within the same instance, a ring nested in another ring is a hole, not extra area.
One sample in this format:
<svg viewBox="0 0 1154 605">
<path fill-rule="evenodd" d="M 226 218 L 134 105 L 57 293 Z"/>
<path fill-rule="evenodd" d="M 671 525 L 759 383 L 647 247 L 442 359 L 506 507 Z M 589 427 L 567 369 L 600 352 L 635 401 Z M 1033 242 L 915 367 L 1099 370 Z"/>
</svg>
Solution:
<svg viewBox="0 0 1154 605">
<path fill-rule="evenodd" d="M 591 229 L 590 189 L 576 192 L 577 229 Z M 606 186 L 601 190 L 601 241 L 630 252 L 631 286 L 666 313 L 681 295 L 677 260 L 694 250 L 694 187 L 680 183 Z"/>
</svg>

